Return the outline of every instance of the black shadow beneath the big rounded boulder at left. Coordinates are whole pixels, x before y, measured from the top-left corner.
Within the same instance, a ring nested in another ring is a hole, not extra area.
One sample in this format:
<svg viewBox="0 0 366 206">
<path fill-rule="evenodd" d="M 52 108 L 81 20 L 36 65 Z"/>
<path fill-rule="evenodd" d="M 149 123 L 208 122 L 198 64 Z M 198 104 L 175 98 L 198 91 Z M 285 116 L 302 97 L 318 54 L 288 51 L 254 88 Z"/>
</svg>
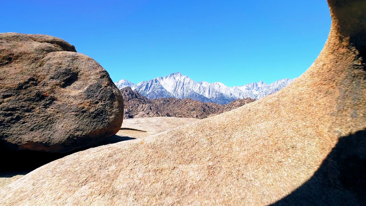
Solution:
<svg viewBox="0 0 366 206">
<path fill-rule="evenodd" d="M 132 139 L 136 138 L 114 135 L 107 140 L 101 141 L 100 143 L 93 146 L 83 147 L 67 153 L 50 153 L 29 150 L 21 150 L 16 152 L 0 151 L 0 155 L 2 157 L 0 160 L 0 177 L 12 177 L 18 174 L 26 174 L 42 165 L 78 151 Z"/>
</svg>

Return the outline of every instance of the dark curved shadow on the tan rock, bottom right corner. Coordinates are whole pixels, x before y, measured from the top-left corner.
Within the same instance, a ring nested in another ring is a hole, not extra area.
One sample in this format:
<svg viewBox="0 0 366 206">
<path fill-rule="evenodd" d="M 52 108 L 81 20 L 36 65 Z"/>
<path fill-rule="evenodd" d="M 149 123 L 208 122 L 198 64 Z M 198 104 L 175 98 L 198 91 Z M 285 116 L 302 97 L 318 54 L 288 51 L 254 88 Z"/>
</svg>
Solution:
<svg viewBox="0 0 366 206">
<path fill-rule="evenodd" d="M 280 205 L 366 205 L 366 130 L 340 138 L 306 183 L 271 206 Z"/>
</svg>

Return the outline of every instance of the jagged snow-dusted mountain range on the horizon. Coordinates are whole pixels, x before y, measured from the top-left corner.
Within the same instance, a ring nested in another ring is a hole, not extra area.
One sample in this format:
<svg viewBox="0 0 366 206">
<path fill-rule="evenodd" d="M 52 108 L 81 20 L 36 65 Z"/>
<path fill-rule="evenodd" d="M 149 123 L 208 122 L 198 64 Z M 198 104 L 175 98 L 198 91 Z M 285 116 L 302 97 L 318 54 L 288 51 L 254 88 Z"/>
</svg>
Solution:
<svg viewBox="0 0 366 206">
<path fill-rule="evenodd" d="M 221 82 L 200 81 L 195 82 L 191 78 L 182 75 L 180 72 L 169 74 L 166 77 L 158 77 L 149 81 L 142 81 L 133 84 L 127 80 L 120 80 L 115 84 L 119 89 L 131 87 L 141 95 L 149 99 L 156 98 L 190 98 L 200 102 L 214 102 L 227 104 L 235 99 L 247 97 L 260 99 L 270 93 L 279 91 L 289 85 L 293 80 L 277 80 L 272 84 L 265 84 L 263 81 L 253 82 L 243 86 L 228 87 Z"/>
</svg>

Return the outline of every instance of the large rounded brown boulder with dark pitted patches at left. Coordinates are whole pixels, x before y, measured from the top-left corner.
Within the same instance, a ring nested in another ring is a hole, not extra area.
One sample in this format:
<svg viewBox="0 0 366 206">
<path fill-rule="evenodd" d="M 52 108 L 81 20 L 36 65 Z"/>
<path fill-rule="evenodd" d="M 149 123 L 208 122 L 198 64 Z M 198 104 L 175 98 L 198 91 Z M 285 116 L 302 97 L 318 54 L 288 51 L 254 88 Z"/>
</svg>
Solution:
<svg viewBox="0 0 366 206">
<path fill-rule="evenodd" d="M 122 124 L 107 71 L 60 38 L 1 33 L 0 82 L 0 150 L 67 152 Z"/>
</svg>

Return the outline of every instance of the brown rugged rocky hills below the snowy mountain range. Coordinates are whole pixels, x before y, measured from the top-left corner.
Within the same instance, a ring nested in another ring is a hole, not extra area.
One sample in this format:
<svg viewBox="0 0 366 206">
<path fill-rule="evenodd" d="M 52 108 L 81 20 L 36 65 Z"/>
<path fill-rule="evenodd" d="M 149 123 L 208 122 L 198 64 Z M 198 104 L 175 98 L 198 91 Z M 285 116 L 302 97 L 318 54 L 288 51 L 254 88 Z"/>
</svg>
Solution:
<svg viewBox="0 0 366 206">
<path fill-rule="evenodd" d="M 143 117 L 206 117 L 230 111 L 244 104 L 255 101 L 246 98 L 234 100 L 228 104 L 199 102 L 192 99 L 159 98 L 149 99 L 130 87 L 120 89 L 124 100 L 124 118 Z"/>
</svg>

